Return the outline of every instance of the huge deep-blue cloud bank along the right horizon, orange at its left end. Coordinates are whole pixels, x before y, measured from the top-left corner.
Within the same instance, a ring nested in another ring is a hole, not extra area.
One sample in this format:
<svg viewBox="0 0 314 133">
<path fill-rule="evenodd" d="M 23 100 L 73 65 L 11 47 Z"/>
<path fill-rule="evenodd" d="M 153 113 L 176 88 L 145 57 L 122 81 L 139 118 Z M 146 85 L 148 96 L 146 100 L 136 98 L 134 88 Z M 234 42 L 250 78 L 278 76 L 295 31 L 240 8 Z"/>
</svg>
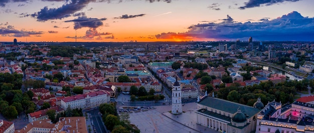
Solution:
<svg viewBox="0 0 314 133">
<path fill-rule="evenodd" d="M 274 20 L 262 22 L 237 23 L 228 16 L 221 23 L 197 24 L 189 27 L 185 33 L 161 33 L 157 39 L 223 39 L 237 40 L 254 36 L 264 41 L 314 41 L 314 18 L 302 17 L 291 12 Z"/>
</svg>

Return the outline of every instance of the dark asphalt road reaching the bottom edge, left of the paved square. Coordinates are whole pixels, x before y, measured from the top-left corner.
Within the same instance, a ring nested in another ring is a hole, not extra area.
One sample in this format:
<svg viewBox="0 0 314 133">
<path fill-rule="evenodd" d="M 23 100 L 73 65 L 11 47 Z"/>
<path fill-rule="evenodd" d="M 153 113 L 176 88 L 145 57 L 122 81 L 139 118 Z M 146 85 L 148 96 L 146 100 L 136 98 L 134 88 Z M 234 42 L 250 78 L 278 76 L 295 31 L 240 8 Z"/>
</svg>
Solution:
<svg viewBox="0 0 314 133">
<path fill-rule="evenodd" d="M 108 131 L 102 122 L 101 116 L 98 114 L 99 110 L 94 109 L 94 110 L 87 111 L 87 112 L 90 113 L 90 116 L 91 116 L 90 118 L 94 122 L 94 126 L 96 128 L 97 133 L 107 133 Z"/>
</svg>

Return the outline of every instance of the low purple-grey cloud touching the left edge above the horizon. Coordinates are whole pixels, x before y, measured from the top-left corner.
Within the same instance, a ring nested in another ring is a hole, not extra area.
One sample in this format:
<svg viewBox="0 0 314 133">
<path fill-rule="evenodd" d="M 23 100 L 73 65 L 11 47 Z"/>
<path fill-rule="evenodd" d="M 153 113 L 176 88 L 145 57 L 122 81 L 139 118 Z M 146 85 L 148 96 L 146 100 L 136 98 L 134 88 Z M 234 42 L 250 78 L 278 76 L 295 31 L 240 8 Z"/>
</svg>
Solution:
<svg viewBox="0 0 314 133">
<path fill-rule="evenodd" d="M 25 30 L 16 30 L 14 26 L 9 25 L 6 27 L 0 27 L 0 35 L 2 36 L 12 36 L 12 37 L 29 37 L 31 35 L 40 35 L 44 32 L 41 31 L 25 31 Z"/>
</svg>

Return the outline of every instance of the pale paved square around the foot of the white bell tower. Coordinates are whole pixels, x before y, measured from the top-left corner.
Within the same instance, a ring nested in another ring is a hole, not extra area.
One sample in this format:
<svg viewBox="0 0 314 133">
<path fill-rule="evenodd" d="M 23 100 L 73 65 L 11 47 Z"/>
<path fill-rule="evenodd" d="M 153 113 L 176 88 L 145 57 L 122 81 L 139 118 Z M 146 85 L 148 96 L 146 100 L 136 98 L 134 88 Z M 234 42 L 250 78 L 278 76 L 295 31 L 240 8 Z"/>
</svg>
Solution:
<svg viewBox="0 0 314 133">
<path fill-rule="evenodd" d="M 156 109 L 129 113 L 131 123 L 140 132 L 218 132 L 196 124 L 196 103 L 186 103 L 184 113 L 174 115 L 170 113 L 171 106 L 155 106 Z"/>
</svg>

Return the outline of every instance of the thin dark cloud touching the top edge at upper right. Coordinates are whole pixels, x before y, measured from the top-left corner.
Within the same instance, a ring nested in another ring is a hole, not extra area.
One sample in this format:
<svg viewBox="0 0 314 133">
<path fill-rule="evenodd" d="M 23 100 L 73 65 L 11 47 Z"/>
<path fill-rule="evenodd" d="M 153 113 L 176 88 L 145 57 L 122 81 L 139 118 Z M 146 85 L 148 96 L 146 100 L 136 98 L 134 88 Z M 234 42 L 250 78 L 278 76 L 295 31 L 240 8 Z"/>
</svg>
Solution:
<svg viewBox="0 0 314 133">
<path fill-rule="evenodd" d="M 300 0 L 249 0 L 247 3 L 244 3 L 245 6 L 239 7 L 239 9 L 244 10 L 246 8 L 254 8 L 261 6 L 270 6 L 273 4 L 283 3 L 283 2 L 297 2 Z"/>
</svg>

